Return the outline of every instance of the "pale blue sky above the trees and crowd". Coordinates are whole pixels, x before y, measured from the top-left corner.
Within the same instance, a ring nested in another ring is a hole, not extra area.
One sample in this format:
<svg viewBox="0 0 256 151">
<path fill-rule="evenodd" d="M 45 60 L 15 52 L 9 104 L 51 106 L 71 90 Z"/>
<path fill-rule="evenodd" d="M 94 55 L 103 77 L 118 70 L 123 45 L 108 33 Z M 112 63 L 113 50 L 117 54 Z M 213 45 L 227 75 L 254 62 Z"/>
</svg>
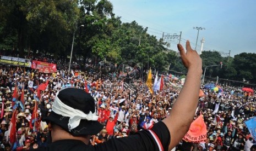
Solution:
<svg viewBox="0 0 256 151">
<path fill-rule="evenodd" d="M 109 0 L 113 13 L 122 22 L 136 21 L 148 27 L 148 33 L 157 39 L 162 34 L 180 34 L 181 44 L 189 40 L 195 48 L 199 30 L 197 51 L 220 51 L 234 56 L 243 52 L 256 53 L 256 1 L 254 0 Z M 143 40 L 143 39 L 141 39 Z M 168 41 L 170 42 L 170 40 Z M 178 39 L 173 39 L 169 49 L 177 51 Z M 227 54 L 228 55 L 228 54 Z M 226 54 L 222 56 L 227 56 Z"/>
</svg>

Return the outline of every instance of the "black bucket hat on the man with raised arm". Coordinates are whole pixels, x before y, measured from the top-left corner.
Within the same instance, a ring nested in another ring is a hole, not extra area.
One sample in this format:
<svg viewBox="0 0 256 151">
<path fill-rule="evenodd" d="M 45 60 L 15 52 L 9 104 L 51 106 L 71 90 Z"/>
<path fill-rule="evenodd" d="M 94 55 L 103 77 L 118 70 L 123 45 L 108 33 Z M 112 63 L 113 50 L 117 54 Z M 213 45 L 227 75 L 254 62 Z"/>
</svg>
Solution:
<svg viewBox="0 0 256 151">
<path fill-rule="evenodd" d="M 58 99 L 58 100 L 57 100 Z M 51 121 L 51 123 L 55 123 L 59 126 L 61 126 L 64 130 L 71 133 L 73 136 L 80 136 L 80 135 L 96 135 L 99 133 L 103 126 L 95 120 L 86 120 L 86 119 L 80 119 L 80 123 L 78 126 L 74 127 L 73 129 L 70 129 L 68 126 L 70 117 L 73 117 L 75 115 L 61 115 L 57 114 L 57 103 L 64 103 L 64 105 L 71 107 L 72 110 L 83 112 L 84 114 L 88 115 L 90 112 L 95 113 L 95 101 L 94 98 L 86 93 L 84 90 L 76 89 L 76 88 L 66 88 L 62 89 L 56 94 L 56 100 L 53 102 L 52 105 L 52 112 L 45 118 L 46 121 Z M 64 111 L 66 112 L 66 111 Z M 63 113 L 65 114 L 65 113 Z M 70 113 L 69 113 L 70 114 Z M 97 117 L 96 117 L 97 119 Z"/>
</svg>

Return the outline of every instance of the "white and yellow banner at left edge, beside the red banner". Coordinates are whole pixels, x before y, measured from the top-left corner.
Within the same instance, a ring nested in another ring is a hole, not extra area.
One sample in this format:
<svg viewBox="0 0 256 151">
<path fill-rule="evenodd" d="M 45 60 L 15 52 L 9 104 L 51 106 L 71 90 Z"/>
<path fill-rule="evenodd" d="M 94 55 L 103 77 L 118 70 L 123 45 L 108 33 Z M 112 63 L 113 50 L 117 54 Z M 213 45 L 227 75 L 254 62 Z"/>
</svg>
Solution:
<svg viewBox="0 0 256 151">
<path fill-rule="evenodd" d="M 0 63 L 24 67 L 31 66 L 31 60 L 12 56 L 1 56 Z"/>
</svg>

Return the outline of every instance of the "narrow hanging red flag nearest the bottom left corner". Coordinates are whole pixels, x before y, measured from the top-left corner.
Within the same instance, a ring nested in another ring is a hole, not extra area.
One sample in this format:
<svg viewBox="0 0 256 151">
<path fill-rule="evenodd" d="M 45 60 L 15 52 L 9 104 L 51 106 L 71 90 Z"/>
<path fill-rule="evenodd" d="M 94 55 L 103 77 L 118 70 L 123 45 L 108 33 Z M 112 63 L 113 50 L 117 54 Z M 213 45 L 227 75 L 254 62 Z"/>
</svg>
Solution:
<svg viewBox="0 0 256 151">
<path fill-rule="evenodd" d="M 12 120 L 10 120 L 10 126 L 7 134 L 7 138 L 10 141 L 11 146 L 13 147 L 13 144 L 17 141 L 16 137 L 16 109 L 13 112 Z"/>
</svg>

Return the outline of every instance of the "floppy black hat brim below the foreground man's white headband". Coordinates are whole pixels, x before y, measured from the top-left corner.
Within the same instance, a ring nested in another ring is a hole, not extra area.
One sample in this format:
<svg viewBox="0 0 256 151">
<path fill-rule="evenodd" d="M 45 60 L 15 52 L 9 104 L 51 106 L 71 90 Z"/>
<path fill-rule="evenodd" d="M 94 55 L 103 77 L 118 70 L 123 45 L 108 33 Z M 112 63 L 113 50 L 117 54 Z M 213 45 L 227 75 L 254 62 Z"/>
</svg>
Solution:
<svg viewBox="0 0 256 151">
<path fill-rule="evenodd" d="M 69 117 L 63 117 L 62 115 L 56 114 L 55 112 L 51 112 L 46 118 L 46 121 L 51 121 L 51 123 L 55 123 L 58 126 L 61 126 L 62 129 L 71 133 L 73 136 L 81 136 L 81 135 L 96 135 L 103 129 L 103 125 L 98 121 L 88 121 L 81 119 L 80 124 L 69 131 L 68 122 Z"/>
</svg>

